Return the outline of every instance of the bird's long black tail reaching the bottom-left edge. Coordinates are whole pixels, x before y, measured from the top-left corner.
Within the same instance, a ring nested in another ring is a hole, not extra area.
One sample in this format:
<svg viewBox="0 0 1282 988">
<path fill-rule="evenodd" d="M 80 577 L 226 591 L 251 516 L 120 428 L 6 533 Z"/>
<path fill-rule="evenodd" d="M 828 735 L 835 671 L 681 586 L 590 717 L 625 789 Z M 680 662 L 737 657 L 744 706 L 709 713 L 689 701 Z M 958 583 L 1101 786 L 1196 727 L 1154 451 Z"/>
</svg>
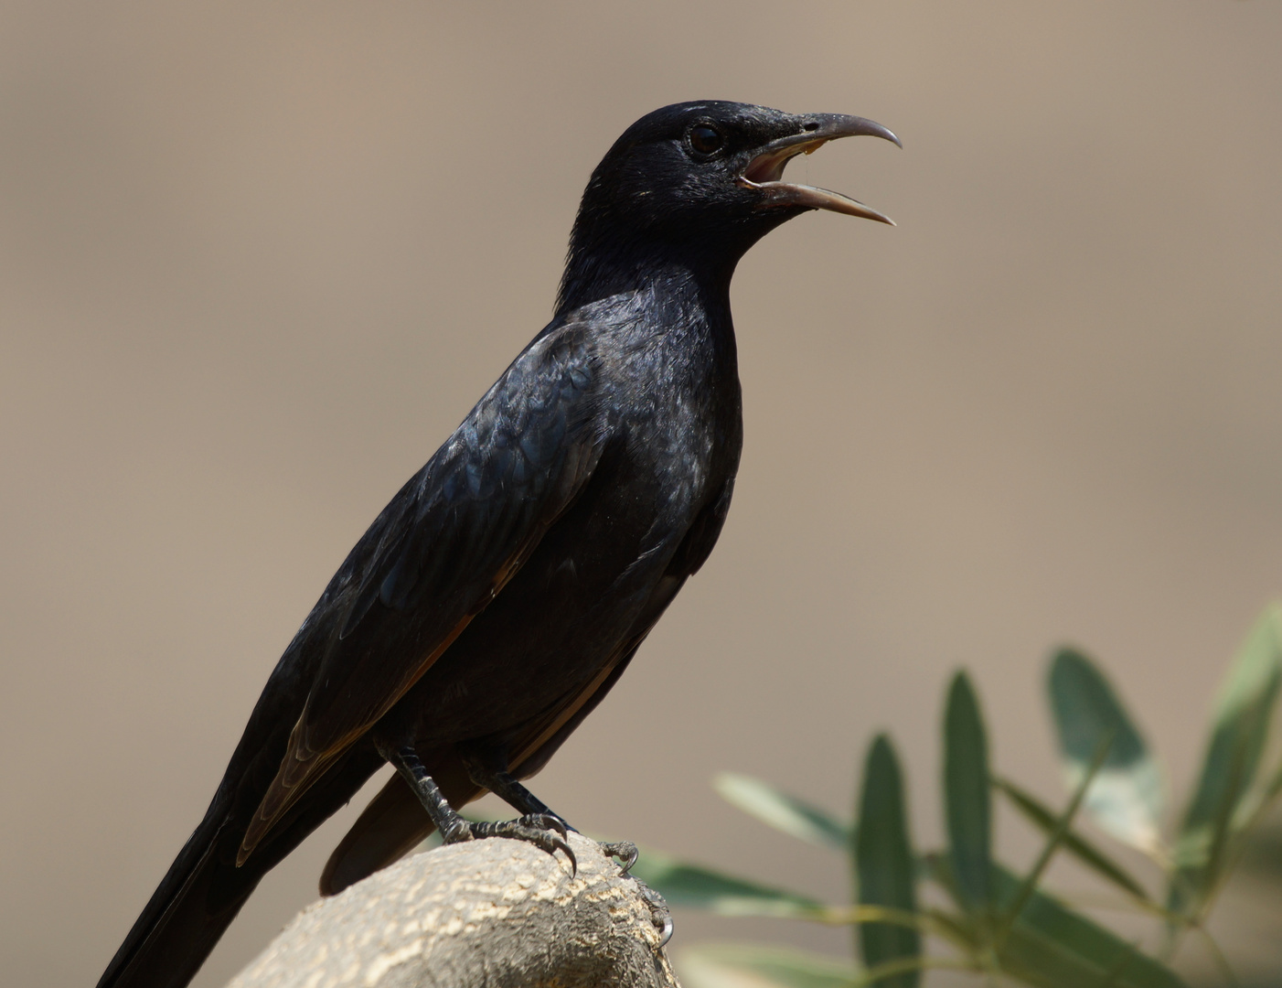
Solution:
<svg viewBox="0 0 1282 988">
<path fill-rule="evenodd" d="M 350 753 L 333 765 L 241 867 L 236 867 L 236 851 L 254 806 L 246 812 L 244 799 L 221 789 L 97 988 L 183 988 L 263 875 L 347 802 L 381 763 L 370 752 Z"/>
</svg>

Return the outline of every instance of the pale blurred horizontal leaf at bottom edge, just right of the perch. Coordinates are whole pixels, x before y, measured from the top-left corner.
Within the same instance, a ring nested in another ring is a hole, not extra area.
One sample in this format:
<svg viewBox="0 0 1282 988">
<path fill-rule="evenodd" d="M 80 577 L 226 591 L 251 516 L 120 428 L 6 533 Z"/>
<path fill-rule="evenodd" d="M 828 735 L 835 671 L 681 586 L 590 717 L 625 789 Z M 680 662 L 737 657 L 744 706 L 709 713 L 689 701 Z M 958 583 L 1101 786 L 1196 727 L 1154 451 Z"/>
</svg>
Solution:
<svg viewBox="0 0 1282 988">
<path fill-rule="evenodd" d="M 849 961 L 754 944 L 701 944 L 677 955 L 686 988 L 850 988 L 859 971 Z"/>
</svg>

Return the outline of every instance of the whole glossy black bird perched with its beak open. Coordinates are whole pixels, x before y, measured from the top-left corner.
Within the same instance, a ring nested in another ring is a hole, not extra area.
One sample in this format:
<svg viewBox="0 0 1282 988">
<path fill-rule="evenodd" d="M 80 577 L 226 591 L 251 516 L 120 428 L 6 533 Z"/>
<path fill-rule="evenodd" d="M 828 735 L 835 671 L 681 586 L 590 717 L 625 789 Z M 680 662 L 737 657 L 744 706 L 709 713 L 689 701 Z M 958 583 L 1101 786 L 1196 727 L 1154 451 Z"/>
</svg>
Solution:
<svg viewBox="0 0 1282 988">
<path fill-rule="evenodd" d="M 187 984 L 263 875 L 385 761 L 397 772 L 323 893 L 433 829 L 569 851 L 518 780 L 601 702 L 720 534 L 742 444 L 738 259 L 808 209 L 890 222 L 782 181 L 790 158 L 851 135 L 899 144 L 860 117 L 722 101 L 665 106 L 615 141 L 553 321 L 335 574 L 99 988 Z M 486 790 L 523 816 L 455 812 Z"/>
</svg>

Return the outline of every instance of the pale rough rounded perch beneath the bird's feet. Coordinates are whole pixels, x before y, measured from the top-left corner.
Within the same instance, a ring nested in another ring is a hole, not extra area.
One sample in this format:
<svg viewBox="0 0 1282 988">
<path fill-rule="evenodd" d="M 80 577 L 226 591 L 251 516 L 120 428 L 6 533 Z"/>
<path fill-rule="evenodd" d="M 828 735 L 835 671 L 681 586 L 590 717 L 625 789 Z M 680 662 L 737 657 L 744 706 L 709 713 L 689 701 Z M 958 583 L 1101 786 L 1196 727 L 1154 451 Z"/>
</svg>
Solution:
<svg viewBox="0 0 1282 988">
<path fill-rule="evenodd" d="M 569 842 L 573 878 L 520 840 L 408 857 L 305 908 L 228 988 L 679 988 L 647 889 Z"/>
</svg>

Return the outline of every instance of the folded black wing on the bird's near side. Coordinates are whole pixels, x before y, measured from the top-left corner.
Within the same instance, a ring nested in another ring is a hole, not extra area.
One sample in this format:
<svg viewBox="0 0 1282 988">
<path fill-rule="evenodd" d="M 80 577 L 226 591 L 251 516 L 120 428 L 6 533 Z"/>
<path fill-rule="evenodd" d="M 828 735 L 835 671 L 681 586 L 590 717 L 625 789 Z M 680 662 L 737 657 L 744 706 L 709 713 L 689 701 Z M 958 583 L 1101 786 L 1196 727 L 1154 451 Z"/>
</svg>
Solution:
<svg viewBox="0 0 1282 988">
<path fill-rule="evenodd" d="M 328 636 L 240 852 L 386 713 L 512 579 L 591 476 L 606 426 L 581 325 L 541 335 L 379 515 L 322 597 Z"/>
</svg>

